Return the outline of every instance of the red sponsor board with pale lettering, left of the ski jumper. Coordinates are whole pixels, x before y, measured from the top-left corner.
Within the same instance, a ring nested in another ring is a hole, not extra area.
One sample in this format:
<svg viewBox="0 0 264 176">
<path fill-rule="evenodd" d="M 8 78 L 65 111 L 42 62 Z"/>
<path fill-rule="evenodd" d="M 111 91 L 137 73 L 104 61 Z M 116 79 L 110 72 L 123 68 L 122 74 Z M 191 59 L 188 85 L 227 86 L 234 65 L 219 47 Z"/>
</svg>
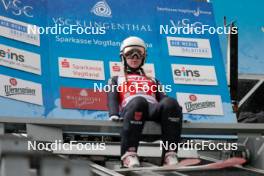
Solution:
<svg viewBox="0 0 264 176">
<path fill-rule="evenodd" d="M 106 92 L 94 92 L 93 89 L 66 87 L 62 87 L 60 92 L 62 108 L 108 110 Z"/>
</svg>

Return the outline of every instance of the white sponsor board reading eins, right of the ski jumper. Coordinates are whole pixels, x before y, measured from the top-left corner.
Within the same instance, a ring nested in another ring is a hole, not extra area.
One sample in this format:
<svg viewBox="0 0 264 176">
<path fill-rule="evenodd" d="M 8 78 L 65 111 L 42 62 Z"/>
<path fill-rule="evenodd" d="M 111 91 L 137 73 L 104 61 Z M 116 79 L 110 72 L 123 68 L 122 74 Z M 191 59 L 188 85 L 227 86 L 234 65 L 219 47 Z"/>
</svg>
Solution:
<svg viewBox="0 0 264 176">
<path fill-rule="evenodd" d="M 172 64 L 175 84 L 217 85 L 214 66 Z"/>
</svg>

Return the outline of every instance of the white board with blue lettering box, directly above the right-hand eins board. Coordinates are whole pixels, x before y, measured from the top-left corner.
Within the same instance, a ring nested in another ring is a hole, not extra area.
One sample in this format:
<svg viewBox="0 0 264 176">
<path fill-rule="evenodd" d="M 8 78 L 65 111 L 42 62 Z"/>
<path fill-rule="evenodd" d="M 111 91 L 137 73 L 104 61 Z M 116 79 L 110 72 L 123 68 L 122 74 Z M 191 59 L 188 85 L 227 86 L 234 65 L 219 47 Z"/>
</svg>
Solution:
<svg viewBox="0 0 264 176">
<path fill-rule="evenodd" d="M 167 37 L 170 56 L 212 58 L 208 39 Z"/>
</svg>

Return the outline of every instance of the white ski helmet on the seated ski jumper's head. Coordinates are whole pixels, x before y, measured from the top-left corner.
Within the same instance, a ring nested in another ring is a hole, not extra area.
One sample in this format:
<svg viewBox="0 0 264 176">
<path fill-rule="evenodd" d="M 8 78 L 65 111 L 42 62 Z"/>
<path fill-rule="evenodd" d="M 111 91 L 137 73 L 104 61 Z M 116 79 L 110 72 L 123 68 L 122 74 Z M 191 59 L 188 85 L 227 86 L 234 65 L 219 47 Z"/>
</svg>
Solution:
<svg viewBox="0 0 264 176">
<path fill-rule="evenodd" d="M 126 62 L 126 59 L 125 59 L 125 50 L 126 48 L 128 47 L 138 47 L 138 48 L 143 48 L 143 61 L 142 61 L 142 64 L 140 65 L 140 67 L 142 65 L 144 65 L 145 63 L 145 60 L 146 60 L 146 56 L 147 56 L 147 52 L 146 52 L 146 44 L 145 42 L 139 38 L 139 37 L 135 37 L 135 36 L 131 36 L 131 37 L 128 37 L 126 38 L 122 43 L 121 43 L 121 46 L 120 46 L 120 57 L 121 57 L 121 61 L 125 64 L 125 66 L 128 66 L 127 65 L 127 62 Z"/>
</svg>

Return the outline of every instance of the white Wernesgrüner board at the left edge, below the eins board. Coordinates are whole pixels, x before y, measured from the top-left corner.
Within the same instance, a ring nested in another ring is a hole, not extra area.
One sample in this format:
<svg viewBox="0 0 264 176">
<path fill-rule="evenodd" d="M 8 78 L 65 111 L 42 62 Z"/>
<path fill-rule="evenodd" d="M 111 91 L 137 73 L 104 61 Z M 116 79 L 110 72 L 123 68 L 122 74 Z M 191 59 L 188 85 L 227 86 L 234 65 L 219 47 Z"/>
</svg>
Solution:
<svg viewBox="0 0 264 176">
<path fill-rule="evenodd" d="M 1 74 L 0 96 L 43 105 L 41 84 Z"/>
</svg>

